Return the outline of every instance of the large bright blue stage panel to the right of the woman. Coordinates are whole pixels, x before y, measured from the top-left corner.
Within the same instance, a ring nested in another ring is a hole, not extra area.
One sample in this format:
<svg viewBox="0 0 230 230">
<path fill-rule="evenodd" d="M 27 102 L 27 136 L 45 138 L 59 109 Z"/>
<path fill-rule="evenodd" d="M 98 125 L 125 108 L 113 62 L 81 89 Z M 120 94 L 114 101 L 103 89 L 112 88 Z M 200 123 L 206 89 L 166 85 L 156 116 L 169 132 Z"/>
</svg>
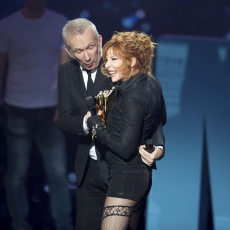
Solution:
<svg viewBox="0 0 230 230">
<path fill-rule="evenodd" d="M 230 229 L 230 42 L 201 37 L 158 39 L 156 77 L 165 96 L 166 155 L 153 172 L 148 230 L 196 230 L 206 121 L 215 230 Z"/>
</svg>

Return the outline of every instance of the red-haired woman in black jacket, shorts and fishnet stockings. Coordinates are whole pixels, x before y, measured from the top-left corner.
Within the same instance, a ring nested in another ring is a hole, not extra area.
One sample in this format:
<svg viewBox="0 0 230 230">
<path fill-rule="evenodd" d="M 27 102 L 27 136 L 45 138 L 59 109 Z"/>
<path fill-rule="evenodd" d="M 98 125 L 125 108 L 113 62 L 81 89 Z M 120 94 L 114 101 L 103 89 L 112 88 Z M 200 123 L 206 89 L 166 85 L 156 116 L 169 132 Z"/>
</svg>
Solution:
<svg viewBox="0 0 230 230">
<path fill-rule="evenodd" d="M 148 195 L 151 170 L 138 153 L 161 120 L 162 90 L 152 77 L 156 43 L 145 33 L 115 33 L 103 47 L 102 72 L 117 82 L 115 104 L 106 119 L 88 118 L 96 138 L 108 147 L 110 182 L 102 217 L 103 230 L 135 229 L 133 211 Z M 132 220 L 131 220 L 132 219 Z M 131 222 L 130 222 L 131 220 Z"/>
</svg>

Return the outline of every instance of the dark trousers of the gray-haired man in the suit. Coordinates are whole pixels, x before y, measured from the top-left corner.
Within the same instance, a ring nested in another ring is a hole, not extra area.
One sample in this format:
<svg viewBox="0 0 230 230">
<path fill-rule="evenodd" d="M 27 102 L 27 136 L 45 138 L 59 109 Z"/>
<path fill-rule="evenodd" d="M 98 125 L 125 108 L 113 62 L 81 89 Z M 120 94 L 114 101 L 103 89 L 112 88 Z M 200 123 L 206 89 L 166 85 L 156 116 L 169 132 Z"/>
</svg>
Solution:
<svg viewBox="0 0 230 230">
<path fill-rule="evenodd" d="M 106 192 L 98 162 L 89 159 L 84 181 L 77 189 L 76 230 L 100 230 Z"/>
</svg>

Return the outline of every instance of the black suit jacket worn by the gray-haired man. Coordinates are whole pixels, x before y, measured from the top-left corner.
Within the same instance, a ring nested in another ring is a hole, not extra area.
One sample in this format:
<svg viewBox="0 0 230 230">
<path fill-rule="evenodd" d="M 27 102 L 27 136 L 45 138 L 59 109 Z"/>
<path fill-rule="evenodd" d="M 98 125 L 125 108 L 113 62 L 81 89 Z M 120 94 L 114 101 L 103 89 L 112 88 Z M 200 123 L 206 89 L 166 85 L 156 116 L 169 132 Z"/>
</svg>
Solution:
<svg viewBox="0 0 230 230">
<path fill-rule="evenodd" d="M 101 90 L 111 89 L 111 86 L 112 82 L 110 78 L 101 73 L 99 66 L 93 86 L 92 97 L 96 96 Z M 79 135 L 80 137 L 75 160 L 75 170 L 77 184 L 81 185 L 89 149 L 92 146 L 92 135 L 86 135 L 83 130 L 83 118 L 88 111 L 85 102 L 87 94 L 80 65 L 76 60 L 66 62 L 59 68 L 58 94 L 58 126 L 60 130 L 66 135 Z M 155 133 L 154 135 L 157 140 L 155 144 L 164 145 L 164 135 L 161 127 L 158 129 L 157 134 Z M 94 144 L 101 175 L 105 183 L 108 183 L 108 167 L 104 158 L 106 152 L 105 146 L 97 139 L 94 140 Z"/>
</svg>

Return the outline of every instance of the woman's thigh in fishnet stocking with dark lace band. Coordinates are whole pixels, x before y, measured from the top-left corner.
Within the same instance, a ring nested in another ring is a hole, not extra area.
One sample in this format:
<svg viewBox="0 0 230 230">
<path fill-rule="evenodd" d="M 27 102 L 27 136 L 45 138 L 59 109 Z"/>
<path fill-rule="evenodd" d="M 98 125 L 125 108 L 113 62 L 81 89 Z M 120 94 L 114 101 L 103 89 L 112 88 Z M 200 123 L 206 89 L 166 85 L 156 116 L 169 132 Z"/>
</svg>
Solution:
<svg viewBox="0 0 230 230">
<path fill-rule="evenodd" d="M 136 201 L 107 197 L 104 205 L 101 230 L 128 229 Z"/>
</svg>

